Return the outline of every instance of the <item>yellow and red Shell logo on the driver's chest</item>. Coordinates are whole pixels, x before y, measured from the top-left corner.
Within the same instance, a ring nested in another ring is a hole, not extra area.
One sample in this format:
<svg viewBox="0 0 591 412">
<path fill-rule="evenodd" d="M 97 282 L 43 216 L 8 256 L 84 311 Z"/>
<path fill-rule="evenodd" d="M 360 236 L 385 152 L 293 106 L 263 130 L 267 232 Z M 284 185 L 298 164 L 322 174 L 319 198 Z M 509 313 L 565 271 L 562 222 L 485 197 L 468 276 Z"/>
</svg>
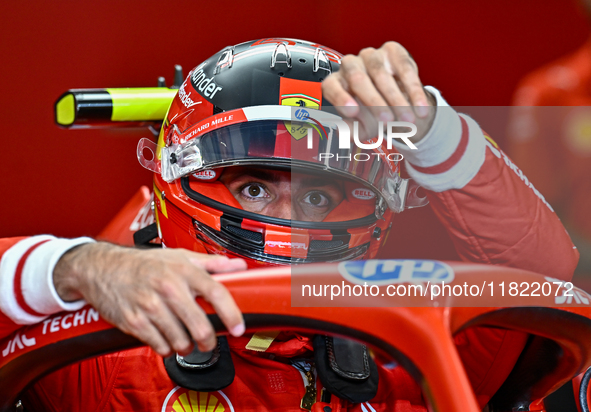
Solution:
<svg viewBox="0 0 591 412">
<path fill-rule="evenodd" d="M 162 412 L 234 412 L 234 406 L 222 391 L 196 392 L 177 386 L 164 400 Z"/>
</svg>

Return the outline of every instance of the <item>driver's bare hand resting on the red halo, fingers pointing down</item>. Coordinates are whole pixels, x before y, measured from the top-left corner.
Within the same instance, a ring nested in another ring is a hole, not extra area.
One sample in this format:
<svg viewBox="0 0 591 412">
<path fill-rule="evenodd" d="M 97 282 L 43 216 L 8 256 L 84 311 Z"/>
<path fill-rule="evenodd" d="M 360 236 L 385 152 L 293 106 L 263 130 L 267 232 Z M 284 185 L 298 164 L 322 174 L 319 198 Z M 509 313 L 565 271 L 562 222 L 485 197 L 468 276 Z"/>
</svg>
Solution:
<svg viewBox="0 0 591 412">
<path fill-rule="evenodd" d="M 211 303 L 232 335 L 244 333 L 236 302 L 210 273 L 245 269 L 242 259 L 100 242 L 62 256 L 54 284 L 64 301 L 85 299 L 105 320 L 168 356 L 172 351 L 190 352 L 192 340 L 201 351 L 216 345 L 213 327 L 196 296 Z"/>
</svg>

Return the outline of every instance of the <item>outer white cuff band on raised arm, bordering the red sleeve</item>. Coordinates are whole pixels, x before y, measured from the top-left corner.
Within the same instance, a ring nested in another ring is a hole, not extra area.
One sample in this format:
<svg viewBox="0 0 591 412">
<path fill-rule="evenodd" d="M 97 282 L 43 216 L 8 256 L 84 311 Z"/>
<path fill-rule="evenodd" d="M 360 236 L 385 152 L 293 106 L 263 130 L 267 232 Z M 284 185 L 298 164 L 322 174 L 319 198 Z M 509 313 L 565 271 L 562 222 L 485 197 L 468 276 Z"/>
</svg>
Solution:
<svg viewBox="0 0 591 412">
<path fill-rule="evenodd" d="M 443 192 L 461 189 L 476 176 L 485 159 L 485 138 L 480 126 L 468 116 L 461 115 L 468 123 L 468 146 L 464 155 L 450 169 L 439 174 L 421 173 L 407 163 L 408 174 L 425 189 Z M 454 148 L 455 149 L 455 148 Z"/>
</svg>

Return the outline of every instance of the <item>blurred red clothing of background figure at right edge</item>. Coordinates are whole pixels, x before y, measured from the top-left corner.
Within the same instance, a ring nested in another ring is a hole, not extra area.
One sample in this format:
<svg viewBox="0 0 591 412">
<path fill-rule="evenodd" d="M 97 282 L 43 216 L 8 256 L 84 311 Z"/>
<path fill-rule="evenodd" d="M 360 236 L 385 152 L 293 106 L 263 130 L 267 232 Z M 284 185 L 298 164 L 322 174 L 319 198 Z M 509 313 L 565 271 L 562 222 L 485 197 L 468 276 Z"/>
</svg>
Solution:
<svg viewBox="0 0 591 412">
<path fill-rule="evenodd" d="M 591 38 L 525 76 L 515 91 L 507 152 L 554 205 L 591 278 Z M 540 107 L 542 106 L 542 107 Z M 544 107 L 545 106 L 545 107 Z"/>
</svg>

